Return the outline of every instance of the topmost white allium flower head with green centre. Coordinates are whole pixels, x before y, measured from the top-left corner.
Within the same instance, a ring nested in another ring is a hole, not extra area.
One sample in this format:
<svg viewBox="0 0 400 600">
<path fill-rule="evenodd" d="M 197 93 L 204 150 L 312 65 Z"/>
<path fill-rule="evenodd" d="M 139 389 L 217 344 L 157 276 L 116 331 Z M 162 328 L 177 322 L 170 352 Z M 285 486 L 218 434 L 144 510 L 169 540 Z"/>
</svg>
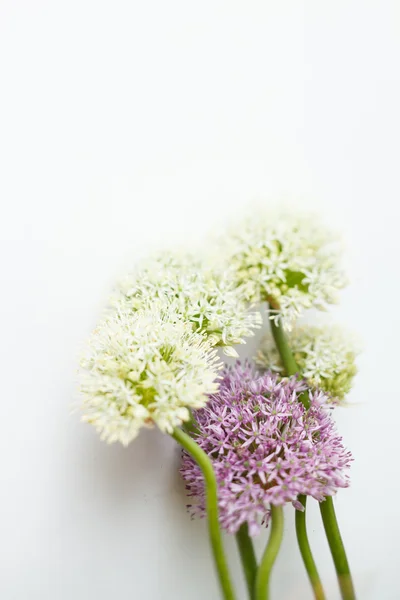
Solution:
<svg viewBox="0 0 400 600">
<path fill-rule="evenodd" d="M 305 309 L 335 303 L 346 284 L 338 240 L 315 216 L 255 210 L 221 241 L 244 298 L 269 302 L 286 330 Z"/>
</svg>

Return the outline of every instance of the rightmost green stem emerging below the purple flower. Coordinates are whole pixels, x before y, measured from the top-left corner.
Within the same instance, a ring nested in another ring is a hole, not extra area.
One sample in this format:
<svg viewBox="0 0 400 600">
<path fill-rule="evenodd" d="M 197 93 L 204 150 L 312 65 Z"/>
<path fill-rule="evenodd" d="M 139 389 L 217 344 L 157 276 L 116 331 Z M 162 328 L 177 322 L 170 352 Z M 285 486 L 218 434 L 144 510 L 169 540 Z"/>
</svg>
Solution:
<svg viewBox="0 0 400 600">
<path fill-rule="evenodd" d="M 321 511 L 329 548 L 335 564 L 342 598 L 343 600 L 355 600 L 356 595 L 351 578 L 349 563 L 347 561 L 342 536 L 340 535 L 335 508 L 333 506 L 333 500 L 331 496 L 328 496 L 324 502 L 320 502 L 319 508 Z"/>
</svg>

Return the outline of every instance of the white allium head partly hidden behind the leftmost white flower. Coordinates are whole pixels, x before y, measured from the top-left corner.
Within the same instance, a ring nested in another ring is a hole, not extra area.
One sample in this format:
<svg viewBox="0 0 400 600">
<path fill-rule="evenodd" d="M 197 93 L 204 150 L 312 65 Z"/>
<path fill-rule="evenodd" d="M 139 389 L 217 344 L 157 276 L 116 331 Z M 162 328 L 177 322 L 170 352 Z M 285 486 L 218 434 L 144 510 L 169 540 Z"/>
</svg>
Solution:
<svg viewBox="0 0 400 600">
<path fill-rule="evenodd" d="M 229 356 L 237 356 L 232 346 L 245 343 L 262 322 L 258 312 L 249 312 L 229 269 L 215 269 L 190 255 L 167 253 L 147 260 L 116 295 L 132 312 L 151 306 L 154 299 L 169 305 L 193 331 L 204 332 Z"/>
</svg>

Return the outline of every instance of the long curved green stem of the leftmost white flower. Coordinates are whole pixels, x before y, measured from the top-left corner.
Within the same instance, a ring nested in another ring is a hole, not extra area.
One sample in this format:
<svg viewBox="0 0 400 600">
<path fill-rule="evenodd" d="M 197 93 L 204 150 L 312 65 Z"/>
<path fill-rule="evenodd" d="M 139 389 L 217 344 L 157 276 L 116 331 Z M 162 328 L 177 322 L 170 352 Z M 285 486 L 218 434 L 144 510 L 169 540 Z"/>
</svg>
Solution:
<svg viewBox="0 0 400 600">
<path fill-rule="evenodd" d="M 235 600 L 235 592 L 229 574 L 219 526 L 218 488 L 211 460 L 200 446 L 182 429 L 174 429 L 171 435 L 192 456 L 203 473 L 206 490 L 208 531 L 223 598 L 224 600 Z"/>
</svg>

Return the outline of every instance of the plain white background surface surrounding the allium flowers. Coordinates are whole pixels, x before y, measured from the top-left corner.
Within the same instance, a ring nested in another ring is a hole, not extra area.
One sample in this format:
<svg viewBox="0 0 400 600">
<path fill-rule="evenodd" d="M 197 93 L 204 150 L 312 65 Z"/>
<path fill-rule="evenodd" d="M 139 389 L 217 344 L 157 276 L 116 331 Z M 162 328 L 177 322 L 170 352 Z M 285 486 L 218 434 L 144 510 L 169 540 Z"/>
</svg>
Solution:
<svg viewBox="0 0 400 600">
<path fill-rule="evenodd" d="M 70 407 L 114 280 L 254 198 L 346 235 L 334 316 L 365 351 L 336 507 L 359 599 L 400 597 L 399 59 L 398 0 L 0 1 L 2 599 L 218 598 L 172 441 L 108 447 Z M 272 588 L 311 598 L 290 509 Z"/>
</svg>

